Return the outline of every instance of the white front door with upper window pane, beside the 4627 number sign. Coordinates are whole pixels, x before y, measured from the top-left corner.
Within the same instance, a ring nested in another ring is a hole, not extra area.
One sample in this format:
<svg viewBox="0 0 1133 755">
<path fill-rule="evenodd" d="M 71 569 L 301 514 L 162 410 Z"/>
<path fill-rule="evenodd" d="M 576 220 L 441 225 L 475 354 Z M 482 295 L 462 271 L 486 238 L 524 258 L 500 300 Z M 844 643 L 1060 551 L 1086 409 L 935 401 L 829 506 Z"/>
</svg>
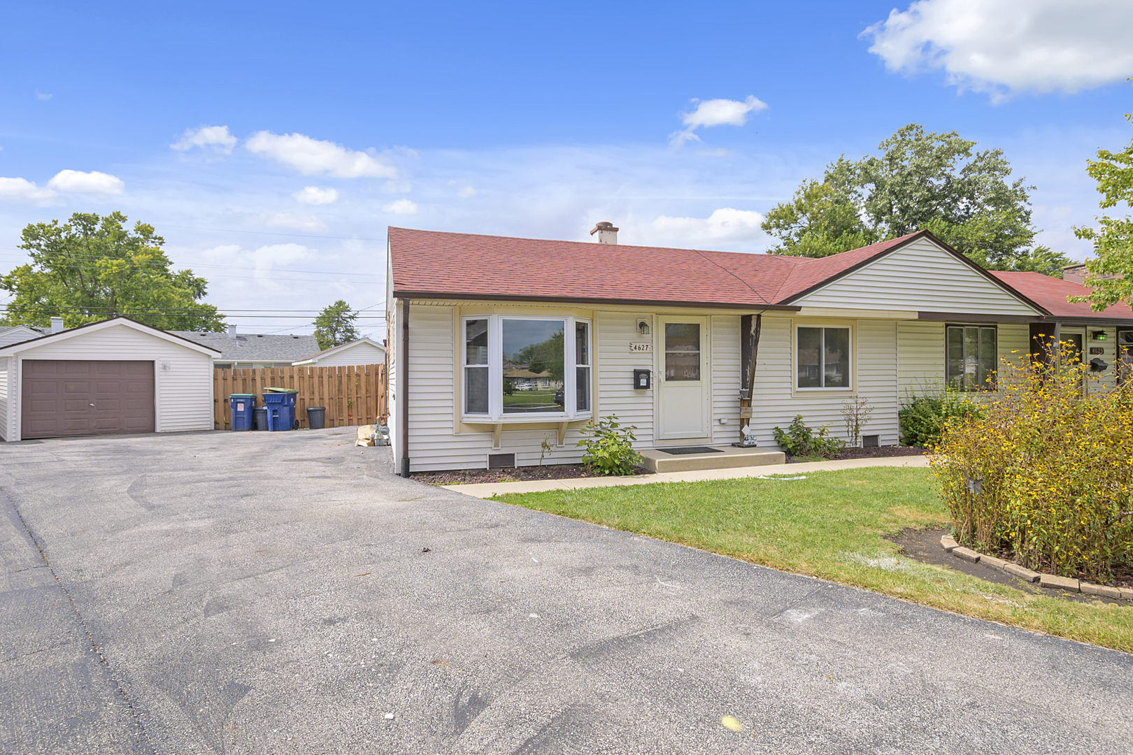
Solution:
<svg viewBox="0 0 1133 755">
<path fill-rule="evenodd" d="M 658 333 L 661 439 L 708 437 L 708 352 L 705 317 L 662 317 Z"/>
</svg>

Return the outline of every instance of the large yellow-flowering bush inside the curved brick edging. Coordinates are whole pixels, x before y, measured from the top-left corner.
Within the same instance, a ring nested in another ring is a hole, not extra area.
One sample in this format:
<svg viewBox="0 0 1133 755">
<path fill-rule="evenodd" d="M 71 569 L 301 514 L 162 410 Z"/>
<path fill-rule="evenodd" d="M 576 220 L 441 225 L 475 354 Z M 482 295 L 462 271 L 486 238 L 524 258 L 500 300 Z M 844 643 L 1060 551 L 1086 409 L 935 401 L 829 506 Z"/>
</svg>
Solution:
<svg viewBox="0 0 1133 755">
<path fill-rule="evenodd" d="M 1057 354 L 1004 362 L 983 411 L 931 457 L 956 539 L 1029 568 L 1106 580 L 1133 558 L 1133 385 Z"/>
</svg>

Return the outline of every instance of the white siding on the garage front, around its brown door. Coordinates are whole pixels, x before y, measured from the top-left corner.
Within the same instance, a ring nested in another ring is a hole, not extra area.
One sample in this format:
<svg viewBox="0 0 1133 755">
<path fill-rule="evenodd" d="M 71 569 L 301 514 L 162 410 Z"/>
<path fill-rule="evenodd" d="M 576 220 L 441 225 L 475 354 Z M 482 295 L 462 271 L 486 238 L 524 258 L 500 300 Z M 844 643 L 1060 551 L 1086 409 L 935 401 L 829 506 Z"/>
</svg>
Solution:
<svg viewBox="0 0 1133 755">
<path fill-rule="evenodd" d="M 27 359 L 153 361 L 156 364 L 156 431 L 213 429 L 211 353 L 181 346 L 127 325 L 113 325 L 49 341 L 18 353 L 18 360 Z M 162 362 L 169 363 L 168 370 L 161 369 Z"/>
</svg>

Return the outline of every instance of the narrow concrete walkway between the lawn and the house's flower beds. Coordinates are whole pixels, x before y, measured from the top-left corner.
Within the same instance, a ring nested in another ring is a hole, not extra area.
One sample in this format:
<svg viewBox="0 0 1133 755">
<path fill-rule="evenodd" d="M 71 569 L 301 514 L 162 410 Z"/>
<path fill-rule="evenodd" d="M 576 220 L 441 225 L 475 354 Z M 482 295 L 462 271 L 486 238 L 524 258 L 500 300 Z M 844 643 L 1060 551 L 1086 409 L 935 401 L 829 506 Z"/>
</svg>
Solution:
<svg viewBox="0 0 1133 755">
<path fill-rule="evenodd" d="M 766 466 L 741 466 L 726 470 L 697 470 L 693 472 L 658 472 L 633 477 L 572 478 L 566 480 L 528 480 L 520 482 L 480 482 L 476 484 L 449 484 L 445 490 L 455 490 L 477 498 L 491 498 L 508 492 L 539 492 L 543 490 L 576 490 L 579 488 L 611 488 L 622 484 L 649 484 L 653 482 L 701 482 L 704 480 L 738 480 L 760 478 L 770 474 L 807 474 L 833 470 L 855 470 L 863 466 L 928 466 L 928 456 L 887 456 L 883 458 L 835 458 L 825 462 L 800 464 L 768 464 Z"/>
</svg>

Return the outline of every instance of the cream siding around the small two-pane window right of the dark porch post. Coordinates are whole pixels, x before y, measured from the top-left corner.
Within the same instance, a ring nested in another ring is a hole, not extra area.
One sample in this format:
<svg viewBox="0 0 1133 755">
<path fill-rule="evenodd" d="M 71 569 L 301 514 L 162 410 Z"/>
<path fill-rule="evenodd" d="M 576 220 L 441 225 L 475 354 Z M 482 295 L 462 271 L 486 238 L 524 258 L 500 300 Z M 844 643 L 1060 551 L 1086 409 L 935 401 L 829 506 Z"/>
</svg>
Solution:
<svg viewBox="0 0 1133 755">
<path fill-rule="evenodd" d="M 818 429 L 826 424 L 830 435 L 845 438 L 842 403 L 850 392 L 815 391 L 792 392 L 794 380 L 792 359 L 792 324 L 821 326 L 821 320 L 792 320 L 785 317 L 764 316 L 759 338 L 759 359 L 756 366 L 756 391 L 752 396 L 751 428 L 760 446 L 777 447 L 773 428 L 784 430 L 802 414 L 808 427 Z M 837 327 L 843 321 L 832 321 Z M 877 435 L 878 443 L 891 446 L 897 443 L 897 366 L 896 321 L 857 320 L 853 328 L 851 358 L 854 360 L 853 392 L 866 396 L 874 406 L 862 435 Z"/>
</svg>

